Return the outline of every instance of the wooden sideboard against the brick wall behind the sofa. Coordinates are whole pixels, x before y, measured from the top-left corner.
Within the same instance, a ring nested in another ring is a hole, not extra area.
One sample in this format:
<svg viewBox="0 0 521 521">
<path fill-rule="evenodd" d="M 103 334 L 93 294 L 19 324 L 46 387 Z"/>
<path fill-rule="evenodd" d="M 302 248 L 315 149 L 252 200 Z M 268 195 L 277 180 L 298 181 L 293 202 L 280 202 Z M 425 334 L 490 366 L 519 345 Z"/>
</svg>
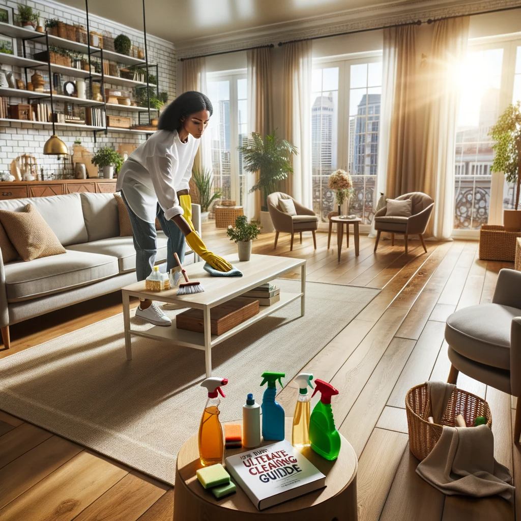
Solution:
<svg viewBox="0 0 521 521">
<path fill-rule="evenodd" d="M 45 197 L 75 192 L 112 193 L 116 191 L 116 179 L 62 179 L 57 181 L 2 181 L 0 200 L 21 197 Z"/>
</svg>

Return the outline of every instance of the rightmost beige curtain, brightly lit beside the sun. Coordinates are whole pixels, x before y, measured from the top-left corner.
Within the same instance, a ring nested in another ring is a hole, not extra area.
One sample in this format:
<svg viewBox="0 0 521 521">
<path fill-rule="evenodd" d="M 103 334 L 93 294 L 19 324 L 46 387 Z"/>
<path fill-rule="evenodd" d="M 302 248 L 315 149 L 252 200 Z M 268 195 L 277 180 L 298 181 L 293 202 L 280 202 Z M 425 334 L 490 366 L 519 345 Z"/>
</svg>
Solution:
<svg viewBox="0 0 521 521">
<path fill-rule="evenodd" d="M 457 70 L 467 52 L 469 17 L 434 24 L 426 68 L 427 111 L 422 185 L 435 201 L 427 233 L 449 239 L 454 222 L 454 146 L 459 92 Z"/>
</svg>

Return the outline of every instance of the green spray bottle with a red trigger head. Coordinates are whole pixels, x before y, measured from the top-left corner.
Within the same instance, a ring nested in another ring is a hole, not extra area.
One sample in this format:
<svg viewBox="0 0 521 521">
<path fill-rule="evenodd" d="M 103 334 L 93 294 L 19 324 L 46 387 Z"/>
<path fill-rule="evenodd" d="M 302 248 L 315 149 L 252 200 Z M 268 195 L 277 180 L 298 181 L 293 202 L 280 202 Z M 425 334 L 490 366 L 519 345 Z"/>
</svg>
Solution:
<svg viewBox="0 0 521 521">
<path fill-rule="evenodd" d="M 320 391 L 320 401 L 309 418 L 309 441 L 311 448 L 326 460 L 336 460 L 340 453 L 340 434 L 334 426 L 331 396 L 338 391 L 324 380 L 315 380 L 315 393 Z"/>
</svg>

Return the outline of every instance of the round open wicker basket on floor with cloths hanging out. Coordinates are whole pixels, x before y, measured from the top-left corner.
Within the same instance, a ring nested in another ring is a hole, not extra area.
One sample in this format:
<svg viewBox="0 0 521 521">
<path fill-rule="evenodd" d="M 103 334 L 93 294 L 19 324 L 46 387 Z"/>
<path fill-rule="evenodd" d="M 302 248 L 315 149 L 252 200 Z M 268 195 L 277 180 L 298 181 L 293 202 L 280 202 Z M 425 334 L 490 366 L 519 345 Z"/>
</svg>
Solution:
<svg viewBox="0 0 521 521">
<path fill-rule="evenodd" d="M 468 426 L 474 425 L 477 416 L 487 418 L 487 426 L 492 428 L 492 414 L 488 403 L 475 394 L 454 389 L 443 417 L 441 425 L 427 421 L 430 416 L 430 397 L 427 383 L 413 387 L 405 395 L 407 411 L 407 427 L 409 430 L 409 446 L 411 452 L 423 461 L 429 455 L 441 436 L 442 426 L 455 426 L 456 416 L 462 414 Z"/>
</svg>

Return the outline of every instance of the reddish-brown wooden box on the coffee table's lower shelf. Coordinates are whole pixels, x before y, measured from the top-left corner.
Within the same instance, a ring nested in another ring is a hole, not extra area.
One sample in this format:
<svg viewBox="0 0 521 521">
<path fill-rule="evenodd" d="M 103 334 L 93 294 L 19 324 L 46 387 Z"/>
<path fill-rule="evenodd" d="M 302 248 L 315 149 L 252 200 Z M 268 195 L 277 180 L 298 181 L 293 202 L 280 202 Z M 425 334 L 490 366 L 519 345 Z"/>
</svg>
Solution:
<svg viewBox="0 0 521 521">
<path fill-rule="evenodd" d="M 210 331 L 212 334 L 222 334 L 238 326 L 244 320 L 255 316 L 259 312 L 259 301 L 247 299 L 243 296 L 235 297 L 224 304 L 210 309 Z M 179 313 L 176 317 L 177 329 L 188 329 L 204 333 L 204 319 L 202 309 L 189 309 Z"/>
</svg>

